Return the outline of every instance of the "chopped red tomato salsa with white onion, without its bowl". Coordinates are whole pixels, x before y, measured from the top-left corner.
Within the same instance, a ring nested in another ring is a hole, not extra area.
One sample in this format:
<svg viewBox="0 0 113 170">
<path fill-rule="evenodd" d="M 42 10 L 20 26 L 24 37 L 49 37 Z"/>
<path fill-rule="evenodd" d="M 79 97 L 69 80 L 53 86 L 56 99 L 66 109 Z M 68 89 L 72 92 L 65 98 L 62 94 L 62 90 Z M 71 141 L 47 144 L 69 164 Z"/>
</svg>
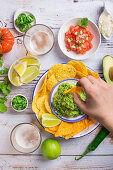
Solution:
<svg viewBox="0 0 113 170">
<path fill-rule="evenodd" d="M 94 35 L 88 27 L 70 26 L 65 33 L 65 42 L 67 51 L 76 51 L 78 54 L 85 54 L 93 45 L 91 43 Z"/>
</svg>

